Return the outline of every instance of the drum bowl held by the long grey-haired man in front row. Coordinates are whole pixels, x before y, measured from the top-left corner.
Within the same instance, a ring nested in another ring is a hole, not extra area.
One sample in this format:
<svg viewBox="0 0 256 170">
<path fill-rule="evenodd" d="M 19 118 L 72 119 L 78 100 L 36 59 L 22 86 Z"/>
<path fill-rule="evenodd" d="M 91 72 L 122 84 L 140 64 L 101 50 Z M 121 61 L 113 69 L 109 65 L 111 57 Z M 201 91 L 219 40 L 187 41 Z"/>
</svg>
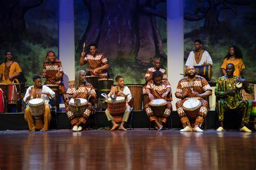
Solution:
<svg viewBox="0 0 256 170">
<path fill-rule="evenodd" d="M 77 104 L 76 100 L 80 100 L 80 103 Z M 75 98 L 69 101 L 69 108 L 73 112 L 73 115 L 80 117 L 83 112 L 87 109 L 87 100 L 84 98 Z"/>
</svg>

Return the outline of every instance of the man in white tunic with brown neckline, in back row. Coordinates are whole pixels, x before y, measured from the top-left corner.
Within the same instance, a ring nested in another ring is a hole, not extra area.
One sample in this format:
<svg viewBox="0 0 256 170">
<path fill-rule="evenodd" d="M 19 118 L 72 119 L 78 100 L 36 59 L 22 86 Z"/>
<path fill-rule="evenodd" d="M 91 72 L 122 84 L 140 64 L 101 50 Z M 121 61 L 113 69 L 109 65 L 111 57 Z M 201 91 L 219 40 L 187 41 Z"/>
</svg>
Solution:
<svg viewBox="0 0 256 170">
<path fill-rule="evenodd" d="M 212 59 L 210 54 L 201 49 L 202 41 L 197 39 L 194 41 L 194 51 L 188 55 L 186 66 L 201 66 L 201 65 L 212 65 Z"/>
</svg>

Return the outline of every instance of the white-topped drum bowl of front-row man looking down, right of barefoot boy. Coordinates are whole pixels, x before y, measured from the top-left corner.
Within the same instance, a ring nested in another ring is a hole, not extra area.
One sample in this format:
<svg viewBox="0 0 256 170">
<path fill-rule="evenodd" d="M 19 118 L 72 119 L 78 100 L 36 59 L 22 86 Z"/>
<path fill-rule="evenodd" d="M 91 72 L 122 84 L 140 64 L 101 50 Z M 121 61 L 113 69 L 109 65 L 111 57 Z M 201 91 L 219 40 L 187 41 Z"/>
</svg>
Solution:
<svg viewBox="0 0 256 170">
<path fill-rule="evenodd" d="M 164 99 L 155 99 L 152 100 L 149 104 L 151 110 L 153 111 L 154 116 L 163 117 L 167 104 L 167 102 Z"/>
</svg>

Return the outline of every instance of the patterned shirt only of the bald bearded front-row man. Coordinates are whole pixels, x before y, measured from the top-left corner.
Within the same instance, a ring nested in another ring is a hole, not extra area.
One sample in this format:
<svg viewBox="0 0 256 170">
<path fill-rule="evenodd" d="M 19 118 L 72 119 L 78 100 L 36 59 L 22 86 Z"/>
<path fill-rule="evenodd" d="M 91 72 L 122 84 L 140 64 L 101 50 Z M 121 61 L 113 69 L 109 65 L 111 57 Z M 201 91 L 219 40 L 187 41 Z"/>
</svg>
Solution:
<svg viewBox="0 0 256 170">
<path fill-rule="evenodd" d="M 178 83 L 175 93 L 182 93 L 183 89 L 185 88 L 188 88 L 186 98 L 192 98 L 192 97 L 197 99 L 201 98 L 201 97 L 196 97 L 194 94 L 192 94 L 192 90 L 197 91 L 199 94 L 202 94 L 207 90 L 212 91 L 211 86 L 208 84 L 205 78 L 199 75 L 196 75 L 193 81 L 188 80 L 187 77 L 184 77 L 184 79 L 181 79 Z"/>
</svg>

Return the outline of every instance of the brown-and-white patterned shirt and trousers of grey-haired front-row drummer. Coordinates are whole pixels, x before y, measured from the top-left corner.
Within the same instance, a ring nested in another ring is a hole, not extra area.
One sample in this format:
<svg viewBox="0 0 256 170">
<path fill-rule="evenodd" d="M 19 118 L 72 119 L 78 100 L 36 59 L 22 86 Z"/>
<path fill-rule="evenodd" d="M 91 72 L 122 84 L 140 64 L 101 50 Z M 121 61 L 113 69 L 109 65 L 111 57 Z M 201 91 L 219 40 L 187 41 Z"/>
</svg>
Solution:
<svg viewBox="0 0 256 170">
<path fill-rule="evenodd" d="M 93 86 L 85 86 L 85 85 L 80 85 L 78 90 L 76 90 L 75 86 L 70 86 L 68 91 L 66 91 L 68 95 L 73 95 L 74 93 L 77 93 L 77 98 L 85 98 L 86 100 L 88 99 L 89 95 L 96 94 L 95 89 Z M 73 112 L 70 110 L 70 108 L 66 108 L 66 114 L 68 115 L 71 125 L 75 125 L 77 122 L 82 122 L 85 123 L 89 116 L 93 113 L 92 107 L 87 107 L 87 109 L 83 112 L 81 117 L 75 117 L 73 115 Z"/>
</svg>

